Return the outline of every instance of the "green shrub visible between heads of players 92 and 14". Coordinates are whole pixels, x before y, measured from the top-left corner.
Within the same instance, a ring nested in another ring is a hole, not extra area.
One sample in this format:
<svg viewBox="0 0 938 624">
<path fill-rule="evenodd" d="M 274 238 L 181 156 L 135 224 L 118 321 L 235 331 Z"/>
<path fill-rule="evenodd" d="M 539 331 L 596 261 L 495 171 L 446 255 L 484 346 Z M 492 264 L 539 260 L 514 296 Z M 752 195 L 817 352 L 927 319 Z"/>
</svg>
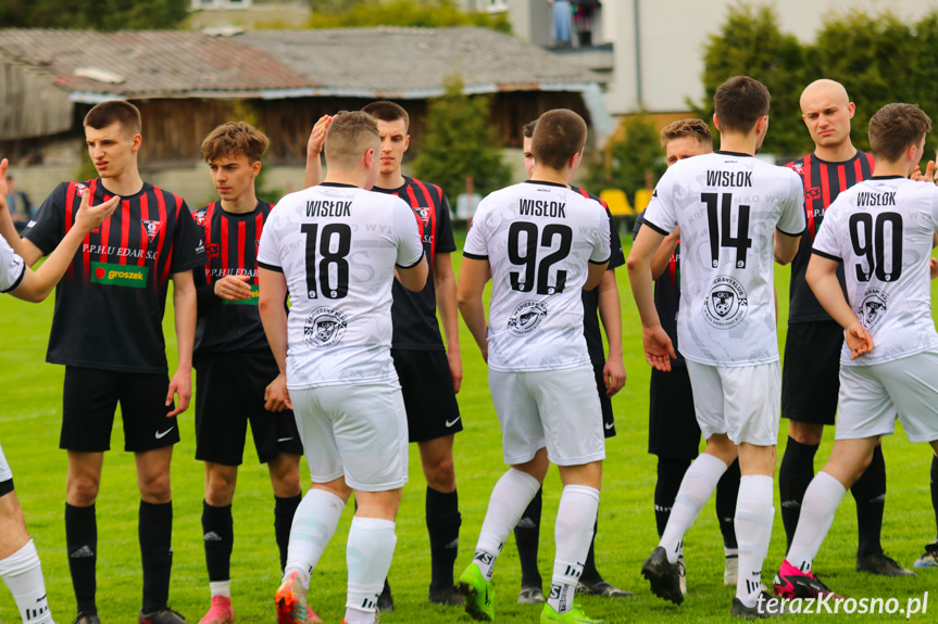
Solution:
<svg viewBox="0 0 938 624">
<path fill-rule="evenodd" d="M 635 191 L 646 187 L 646 174 L 651 173 L 652 182 L 656 182 L 666 163 L 658 129 L 647 115 L 629 117 L 623 120 L 622 127 L 625 130 L 623 140 L 611 141 L 604 153 L 591 154 L 586 181 L 595 192 L 622 189 L 631 201 Z"/>
</svg>

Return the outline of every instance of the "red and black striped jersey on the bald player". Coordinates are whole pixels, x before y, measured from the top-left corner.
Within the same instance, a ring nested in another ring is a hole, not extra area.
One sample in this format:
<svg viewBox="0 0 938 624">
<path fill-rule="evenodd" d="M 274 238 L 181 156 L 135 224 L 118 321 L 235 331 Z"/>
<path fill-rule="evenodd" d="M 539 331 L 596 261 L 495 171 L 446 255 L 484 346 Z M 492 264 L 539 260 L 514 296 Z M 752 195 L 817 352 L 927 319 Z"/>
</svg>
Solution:
<svg viewBox="0 0 938 624">
<path fill-rule="evenodd" d="M 842 163 L 828 163 L 814 154 L 808 154 L 788 163 L 786 167 L 801 176 L 804 183 L 804 213 L 808 218 L 798 254 L 791 262 L 788 322 L 830 320 L 830 316 L 824 311 L 824 307 L 811 292 L 804 272 L 811 260 L 811 249 L 821 221 L 824 220 L 824 213 L 842 191 L 873 175 L 873 154 L 858 151 L 855 156 Z M 837 277 L 840 279 L 840 286 L 846 289 L 842 267 L 837 268 Z"/>
</svg>

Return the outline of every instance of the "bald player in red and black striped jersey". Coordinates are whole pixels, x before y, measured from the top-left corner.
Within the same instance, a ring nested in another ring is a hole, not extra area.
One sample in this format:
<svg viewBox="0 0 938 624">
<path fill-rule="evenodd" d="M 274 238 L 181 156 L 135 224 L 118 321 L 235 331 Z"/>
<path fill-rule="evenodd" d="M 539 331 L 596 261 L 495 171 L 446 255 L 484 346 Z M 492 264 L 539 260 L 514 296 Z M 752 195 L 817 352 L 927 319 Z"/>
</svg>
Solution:
<svg viewBox="0 0 938 624">
<path fill-rule="evenodd" d="M 861 152 L 850 140 L 850 119 L 855 105 L 847 90 L 834 80 L 815 80 L 801 93 L 801 117 L 814 141 L 814 152 L 787 166 L 804 183 L 808 228 L 791 263 L 788 335 L 781 373 L 781 417 L 788 419 L 788 443 L 778 470 L 781 521 L 788 545 L 798 525 L 801 499 L 814 476 L 814 455 L 824 425 L 834 424 L 840 386 L 840 345 L 843 331 L 821 307 L 804 272 L 811 259 L 814 237 L 830 203 L 874 169 L 873 155 Z M 841 284 L 843 269 L 837 272 Z M 887 576 L 910 574 L 886 557 L 880 545 L 886 499 L 886 464 L 877 446 L 870 468 L 851 488 L 856 500 L 860 533 L 856 570 Z"/>
</svg>

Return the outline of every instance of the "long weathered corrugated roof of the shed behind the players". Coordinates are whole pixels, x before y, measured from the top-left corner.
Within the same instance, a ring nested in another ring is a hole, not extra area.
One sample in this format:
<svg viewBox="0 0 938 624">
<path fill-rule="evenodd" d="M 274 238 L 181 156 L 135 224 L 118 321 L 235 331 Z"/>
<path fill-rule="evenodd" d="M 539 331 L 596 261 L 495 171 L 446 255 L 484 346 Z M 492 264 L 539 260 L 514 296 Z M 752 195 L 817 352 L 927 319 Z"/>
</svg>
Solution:
<svg viewBox="0 0 938 624">
<path fill-rule="evenodd" d="M 41 66 L 79 98 L 417 98 L 438 94 L 446 76 L 457 72 L 474 92 L 580 90 L 597 81 L 563 58 L 483 28 L 262 30 L 234 37 L 2 29 L 0 59 Z M 77 77 L 78 68 L 103 69 L 124 81 Z"/>
</svg>

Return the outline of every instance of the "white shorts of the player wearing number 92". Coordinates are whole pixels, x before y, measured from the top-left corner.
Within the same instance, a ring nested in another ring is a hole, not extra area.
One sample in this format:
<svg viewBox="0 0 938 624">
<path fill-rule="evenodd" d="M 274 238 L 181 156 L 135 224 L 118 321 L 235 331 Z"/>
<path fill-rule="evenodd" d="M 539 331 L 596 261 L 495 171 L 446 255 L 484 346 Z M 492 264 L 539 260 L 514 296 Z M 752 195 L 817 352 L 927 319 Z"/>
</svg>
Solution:
<svg viewBox="0 0 938 624">
<path fill-rule="evenodd" d="M 489 369 L 488 381 L 505 463 L 530 461 L 545 446 L 558 466 L 605 459 L 592 366 L 531 372 Z"/>
</svg>

